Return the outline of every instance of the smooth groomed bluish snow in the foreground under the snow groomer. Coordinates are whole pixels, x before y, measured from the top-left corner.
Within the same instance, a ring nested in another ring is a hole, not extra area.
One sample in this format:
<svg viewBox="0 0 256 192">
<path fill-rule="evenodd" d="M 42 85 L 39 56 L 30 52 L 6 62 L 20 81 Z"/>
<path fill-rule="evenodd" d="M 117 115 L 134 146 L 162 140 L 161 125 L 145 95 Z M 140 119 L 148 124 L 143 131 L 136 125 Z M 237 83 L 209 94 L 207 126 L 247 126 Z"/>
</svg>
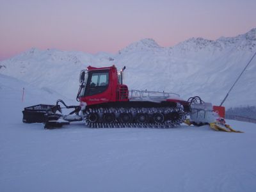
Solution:
<svg viewBox="0 0 256 192">
<path fill-rule="evenodd" d="M 20 87 L 26 86 L 21 102 Z M 45 130 L 22 108 L 55 93 L 0 75 L 0 191 L 255 191 L 256 124 L 245 133 L 175 129 Z"/>
</svg>

